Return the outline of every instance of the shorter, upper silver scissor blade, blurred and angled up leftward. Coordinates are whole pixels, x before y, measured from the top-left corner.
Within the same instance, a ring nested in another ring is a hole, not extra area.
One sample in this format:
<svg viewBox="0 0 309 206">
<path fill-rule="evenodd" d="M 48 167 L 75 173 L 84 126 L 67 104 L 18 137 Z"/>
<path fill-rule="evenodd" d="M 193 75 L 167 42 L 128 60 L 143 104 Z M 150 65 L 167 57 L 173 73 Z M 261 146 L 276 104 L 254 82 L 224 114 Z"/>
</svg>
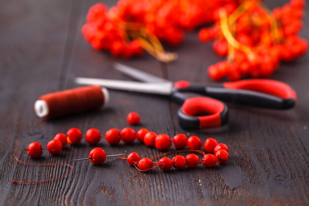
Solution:
<svg viewBox="0 0 309 206">
<path fill-rule="evenodd" d="M 118 70 L 119 72 L 142 82 L 170 82 L 168 80 L 165 80 L 163 78 L 157 77 L 155 75 L 151 75 L 147 72 L 143 72 L 138 69 L 134 69 L 133 67 L 126 66 L 123 64 L 115 63 L 114 68 Z"/>
</svg>

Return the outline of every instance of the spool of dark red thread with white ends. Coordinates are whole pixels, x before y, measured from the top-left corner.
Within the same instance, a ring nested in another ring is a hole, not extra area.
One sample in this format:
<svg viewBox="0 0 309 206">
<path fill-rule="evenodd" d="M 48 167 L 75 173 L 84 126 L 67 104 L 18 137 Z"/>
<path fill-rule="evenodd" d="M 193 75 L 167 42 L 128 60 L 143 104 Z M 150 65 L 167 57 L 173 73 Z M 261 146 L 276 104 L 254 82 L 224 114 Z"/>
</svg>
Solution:
<svg viewBox="0 0 309 206">
<path fill-rule="evenodd" d="M 106 88 L 82 86 L 40 96 L 35 112 L 40 118 L 55 119 L 98 109 L 108 101 Z"/>
</svg>

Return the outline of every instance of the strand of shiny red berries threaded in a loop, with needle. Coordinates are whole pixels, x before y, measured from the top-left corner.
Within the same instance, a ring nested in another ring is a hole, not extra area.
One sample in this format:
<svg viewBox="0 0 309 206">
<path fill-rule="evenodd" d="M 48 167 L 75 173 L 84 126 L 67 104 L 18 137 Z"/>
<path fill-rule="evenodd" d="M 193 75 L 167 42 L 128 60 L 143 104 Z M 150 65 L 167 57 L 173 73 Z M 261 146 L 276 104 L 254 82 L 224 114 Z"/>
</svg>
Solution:
<svg viewBox="0 0 309 206">
<path fill-rule="evenodd" d="M 59 154 L 67 143 L 78 144 L 81 141 L 82 133 L 77 128 L 71 128 L 68 130 L 67 134 L 58 133 L 55 135 L 54 139 L 47 144 L 47 150 L 50 154 Z M 185 134 L 176 134 L 172 140 L 166 134 L 156 134 L 153 131 L 149 131 L 146 128 L 141 128 L 137 132 L 134 129 L 125 127 L 121 131 L 116 128 L 112 128 L 105 133 L 105 138 L 107 142 L 111 145 L 116 145 L 120 141 L 124 143 L 132 143 L 135 139 L 143 142 L 149 147 L 157 148 L 158 150 L 167 150 L 172 146 L 178 151 L 170 151 L 153 158 L 143 158 L 141 159 L 139 154 L 136 152 L 130 153 L 127 157 L 120 157 L 121 159 L 127 160 L 129 165 L 134 165 L 140 171 L 150 171 L 154 167 L 159 167 L 164 171 L 171 169 L 172 167 L 176 169 L 183 169 L 186 165 L 189 167 L 195 167 L 198 163 L 202 163 L 206 167 L 212 167 L 216 163 L 224 164 L 229 160 L 229 148 L 226 144 L 218 143 L 216 139 L 207 138 L 205 143 L 197 136 L 190 136 L 187 138 Z M 86 131 L 86 141 L 93 145 L 100 141 L 101 134 L 98 129 L 91 128 Z M 189 150 L 183 150 L 188 146 Z M 201 151 L 202 148 L 208 154 Z M 28 155 L 33 158 L 39 158 L 42 155 L 42 147 L 38 142 L 31 143 L 28 148 Z M 183 153 L 183 152 L 197 152 L 203 155 L 202 159 L 195 154 L 189 154 L 186 157 L 177 155 L 172 160 L 163 157 L 157 163 L 153 160 L 168 154 Z M 212 154 L 211 154 L 212 153 Z M 89 158 L 91 163 L 95 165 L 101 165 L 106 160 L 106 153 L 102 148 L 94 148 L 89 153 Z M 19 161 L 20 162 L 20 161 Z M 16 181 L 15 181 L 16 182 Z"/>
</svg>

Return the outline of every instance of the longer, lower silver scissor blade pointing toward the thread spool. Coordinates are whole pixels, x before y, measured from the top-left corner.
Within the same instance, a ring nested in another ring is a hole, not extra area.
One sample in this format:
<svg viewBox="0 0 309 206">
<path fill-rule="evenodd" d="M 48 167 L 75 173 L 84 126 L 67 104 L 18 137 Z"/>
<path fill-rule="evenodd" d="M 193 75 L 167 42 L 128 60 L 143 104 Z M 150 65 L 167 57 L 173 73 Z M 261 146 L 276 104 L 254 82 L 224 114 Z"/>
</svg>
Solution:
<svg viewBox="0 0 309 206">
<path fill-rule="evenodd" d="M 76 78 L 77 84 L 100 85 L 111 89 L 119 89 L 126 91 L 136 91 L 152 94 L 170 95 L 172 93 L 172 83 L 145 83 L 145 82 L 131 82 L 121 80 L 106 80 L 94 78 Z"/>
</svg>

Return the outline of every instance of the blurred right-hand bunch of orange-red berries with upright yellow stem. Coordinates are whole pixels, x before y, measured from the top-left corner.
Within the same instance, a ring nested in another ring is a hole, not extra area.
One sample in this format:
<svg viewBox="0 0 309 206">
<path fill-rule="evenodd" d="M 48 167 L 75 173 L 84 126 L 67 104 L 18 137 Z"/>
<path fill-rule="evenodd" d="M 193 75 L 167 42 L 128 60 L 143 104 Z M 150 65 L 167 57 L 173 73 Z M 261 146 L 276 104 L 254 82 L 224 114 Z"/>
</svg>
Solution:
<svg viewBox="0 0 309 206">
<path fill-rule="evenodd" d="M 199 32 L 200 41 L 214 40 L 214 51 L 228 56 L 227 61 L 209 66 L 209 76 L 216 81 L 268 78 L 281 60 L 292 61 L 305 54 L 308 41 L 297 36 L 305 4 L 305 0 L 291 0 L 271 12 L 261 1 L 246 0 L 230 16 L 221 10 L 214 26 Z"/>
</svg>

